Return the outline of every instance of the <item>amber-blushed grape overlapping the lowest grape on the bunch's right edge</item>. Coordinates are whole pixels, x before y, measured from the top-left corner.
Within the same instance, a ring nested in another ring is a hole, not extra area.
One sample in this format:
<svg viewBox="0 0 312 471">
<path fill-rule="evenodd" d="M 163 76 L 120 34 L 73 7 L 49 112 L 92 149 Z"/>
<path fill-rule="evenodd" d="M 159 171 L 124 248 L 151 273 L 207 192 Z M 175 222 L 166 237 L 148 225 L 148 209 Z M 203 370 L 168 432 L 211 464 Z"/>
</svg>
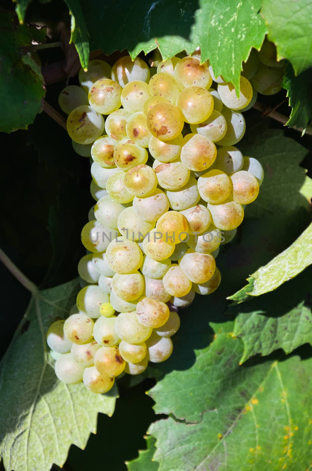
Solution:
<svg viewBox="0 0 312 471">
<path fill-rule="evenodd" d="M 189 249 L 180 260 L 179 267 L 192 283 L 206 283 L 215 271 L 212 255 Z"/>
</svg>

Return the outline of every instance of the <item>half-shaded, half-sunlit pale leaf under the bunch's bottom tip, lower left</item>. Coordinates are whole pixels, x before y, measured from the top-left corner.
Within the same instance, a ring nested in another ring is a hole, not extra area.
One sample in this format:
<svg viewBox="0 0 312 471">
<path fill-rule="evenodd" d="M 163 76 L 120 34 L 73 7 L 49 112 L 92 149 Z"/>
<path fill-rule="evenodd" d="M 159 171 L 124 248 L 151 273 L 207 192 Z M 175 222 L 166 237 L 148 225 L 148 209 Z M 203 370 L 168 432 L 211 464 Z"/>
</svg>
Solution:
<svg viewBox="0 0 312 471">
<path fill-rule="evenodd" d="M 46 331 L 68 315 L 79 282 L 33 294 L 1 362 L 0 449 L 7 471 L 49 471 L 62 466 L 71 444 L 84 448 L 96 432 L 99 412 L 113 414 L 116 388 L 92 394 L 82 383 L 57 380 L 47 352 Z"/>
</svg>

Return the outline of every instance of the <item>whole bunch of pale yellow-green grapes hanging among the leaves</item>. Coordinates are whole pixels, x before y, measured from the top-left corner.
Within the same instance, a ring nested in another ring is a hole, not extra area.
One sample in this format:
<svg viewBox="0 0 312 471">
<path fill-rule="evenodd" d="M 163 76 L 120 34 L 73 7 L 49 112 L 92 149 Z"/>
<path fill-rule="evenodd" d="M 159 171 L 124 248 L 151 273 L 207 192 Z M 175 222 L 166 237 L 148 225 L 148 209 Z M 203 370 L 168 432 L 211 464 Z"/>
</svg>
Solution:
<svg viewBox="0 0 312 471">
<path fill-rule="evenodd" d="M 81 233 L 82 289 L 47 334 L 60 381 L 105 393 L 116 376 L 166 360 L 178 309 L 218 288 L 219 246 L 263 181 L 260 162 L 236 147 L 242 112 L 257 91 L 278 91 L 280 65 L 265 41 L 244 64 L 237 97 L 199 50 L 153 67 L 91 60 L 81 87 L 60 93 L 73 147 L 91 157 L 96 201 Z"/>
</svg>

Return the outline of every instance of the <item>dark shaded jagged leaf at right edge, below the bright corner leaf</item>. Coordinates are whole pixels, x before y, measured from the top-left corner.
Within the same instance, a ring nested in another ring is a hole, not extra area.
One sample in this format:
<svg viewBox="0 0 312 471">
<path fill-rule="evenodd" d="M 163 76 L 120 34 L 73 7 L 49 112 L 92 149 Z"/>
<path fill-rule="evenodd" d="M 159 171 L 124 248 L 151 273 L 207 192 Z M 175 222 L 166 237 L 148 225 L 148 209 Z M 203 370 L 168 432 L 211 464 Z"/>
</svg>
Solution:
<svg viewBox="0 0 312 471">
<path fill-rule="evenodd" d="M 305 130 L 312 118 L 312 70 L 306 70 L 296 77 L 294 69 L 288 64 L 282 87 L 287 90 L 289 106 L 292 108 L 287 126 Z"/>
</svg>

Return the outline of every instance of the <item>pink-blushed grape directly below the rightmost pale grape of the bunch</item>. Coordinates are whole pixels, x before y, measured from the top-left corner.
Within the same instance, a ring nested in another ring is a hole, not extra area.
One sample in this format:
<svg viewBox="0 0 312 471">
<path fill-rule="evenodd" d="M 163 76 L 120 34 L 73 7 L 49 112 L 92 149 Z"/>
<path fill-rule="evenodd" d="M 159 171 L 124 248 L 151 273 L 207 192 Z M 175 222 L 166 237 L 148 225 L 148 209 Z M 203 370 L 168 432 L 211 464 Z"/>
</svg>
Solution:
<svg viewBox="0 0 312 471">
<path fill-rule="evenodd" d="M 259 195 L 259 183 L 252 173 L 240 170 L 231 175 L 233 199 L 236 203 L 249 204 Z"/>
</svg>

